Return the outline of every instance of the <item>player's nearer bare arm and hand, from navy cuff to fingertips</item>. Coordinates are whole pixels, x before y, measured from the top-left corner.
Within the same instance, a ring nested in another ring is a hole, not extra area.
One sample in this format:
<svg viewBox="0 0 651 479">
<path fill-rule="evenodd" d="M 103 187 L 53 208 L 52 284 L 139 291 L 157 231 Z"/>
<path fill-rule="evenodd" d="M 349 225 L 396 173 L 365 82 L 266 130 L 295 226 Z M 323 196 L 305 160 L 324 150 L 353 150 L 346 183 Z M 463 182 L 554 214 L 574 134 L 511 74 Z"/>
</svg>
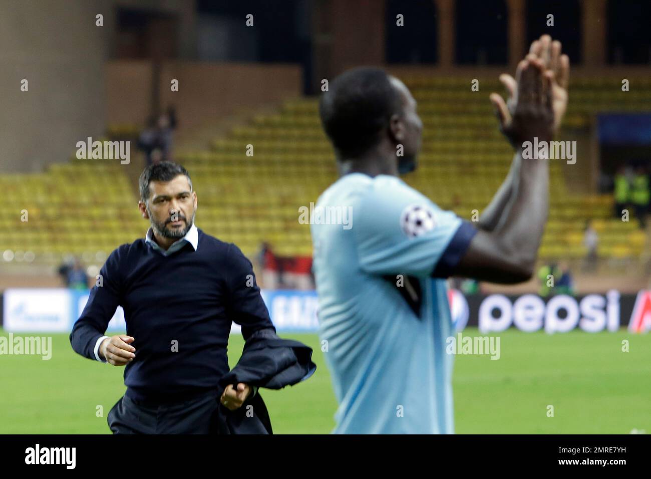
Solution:
<svg viewBox="0 0 651 479">
<path fill-rule="evenodd" d="M 528 57 L 518 65 L 517 98 L 510 103 L 512 117 L 503 123 L 503 131 L 516 147 L 517 181 L 511 182 L 504 216 L 492 230 L 479 229 L 454 275 L 495 283 L 531 278 L 547 220 L 549 161 L 522 159 L 522 145 L 534 137 L 550 141 L 553 136 L 552 82 L 553 72 L 540 59 Z"/>
</svg>

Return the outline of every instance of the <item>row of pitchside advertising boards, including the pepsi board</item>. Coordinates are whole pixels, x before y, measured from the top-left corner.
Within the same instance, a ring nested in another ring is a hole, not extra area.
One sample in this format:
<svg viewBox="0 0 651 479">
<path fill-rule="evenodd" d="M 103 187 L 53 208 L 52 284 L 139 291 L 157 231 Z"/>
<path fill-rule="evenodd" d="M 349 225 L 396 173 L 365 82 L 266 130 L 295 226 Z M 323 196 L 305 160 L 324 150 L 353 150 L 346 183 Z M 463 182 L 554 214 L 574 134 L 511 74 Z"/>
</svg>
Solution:
<svg viewBox="0 0 651 479">
<path fill-rule="evenodd" d="M 3 328 L 12 332 L 66 332 L 83 312 L 89 291 L 70 289 L 7 289 L 3 294 Z M 279 332 L 316 332 L 318 299 L 315 291 L 262 291 L 271 321 Z M 575 329 L 586 332 L 631 332 L 651 329 L 651 290 L 637 295 L 620 295 L 611 290 L 605 295 L 579 297 L 556 295 L 505 296 L 448 293 L 450 312 L 456 330 L 478 327 L 491 333 L 514 327 L 525 332 L 547 333 Z M 126 330 L 124 311 L 118 307 L 107 331 Z M 233 325 L 232 331 L 240 327 Z"/>
</svg>

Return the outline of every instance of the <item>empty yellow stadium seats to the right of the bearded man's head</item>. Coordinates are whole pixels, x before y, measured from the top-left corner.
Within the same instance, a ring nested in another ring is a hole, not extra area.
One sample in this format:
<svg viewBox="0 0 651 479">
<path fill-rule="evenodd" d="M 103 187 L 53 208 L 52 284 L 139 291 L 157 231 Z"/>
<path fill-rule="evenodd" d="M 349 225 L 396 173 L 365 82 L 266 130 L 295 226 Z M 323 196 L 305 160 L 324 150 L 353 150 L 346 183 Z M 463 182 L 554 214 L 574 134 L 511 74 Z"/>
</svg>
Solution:
<svg viewBox="0 0 651 479">
<path fill-rule="evenodd" d="M 511 150 L 497 130 L 488 101 L 477 101 L 467 78 L 404 78 L 418 100 L 424 123 L 419 169 L 406 181 L 445 209 L 471 219 L 490 201 L 508 172 Z M 635 95 L 613 100 L 620 80 L 579 78 L 564 124 L 587 126 L 598 111 L 637 111 L 651 99 L 651 81 L 640 78 Z M 500 91 L 496 81 L 481 80 L 484 91 Z M 482 97 L 482 100 L 484 98 Z M 246 156 L 253 145 L 253 156 Z M 256 117 L 212 144 L 212 151 L 187 152 L 182 162 L 194 171 L 197 188 L 214 211 L 212 233 L 240 244 L 249 254 L 268 240 L 282 255 L 311 253 L 309 226 L 298 223 L 298 208 L 309 207 L 337 178 L 331 147 L 318 118 L 314 98 L 284 104 L 275 115 Z M 197 174 L 199 173 L 199 174 Z M 206 190 L 214 194 L 206 198 Z M 599 254 L 636 258 L 646 235 L 637 222 L 612 218 L 611 195 L 574 194 L 560 162 L 551 162 L 551 209 L 540 256 L 579 259 L 586 255 L 587 220 L 600 235 Z M 228 205 L 228 206 L 227 206 Z M 204 224 L 206 229 L 208 225 Z"/>
</svg>

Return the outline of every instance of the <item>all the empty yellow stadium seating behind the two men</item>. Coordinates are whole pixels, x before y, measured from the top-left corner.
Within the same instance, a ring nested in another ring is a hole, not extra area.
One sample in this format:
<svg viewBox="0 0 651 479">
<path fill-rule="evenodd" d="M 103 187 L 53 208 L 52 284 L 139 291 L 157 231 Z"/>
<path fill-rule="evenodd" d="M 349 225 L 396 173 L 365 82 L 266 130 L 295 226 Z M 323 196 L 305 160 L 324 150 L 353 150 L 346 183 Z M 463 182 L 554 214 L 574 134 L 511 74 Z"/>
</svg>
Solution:
<svg viewBox="0 0 651 479">
<path fill-rule="evenodd" d="M 490 103 L 467 87 L 467 78 L 404 78 L 418 100 L 424 123 L 419 169 L 405 180 L 444 209 L 471 219 L 488 204 L 508 172 L 511 150 L 501 138 Z M 633 81 L 633 80 L 631 80 Z M 613 98 L 617 79 L 577 78 L 571 85 L 565 124 L 581 128 L 604 110 L 638 111 L 651 100 L 651 80 Z M 483 91 L 501 91 L 494 80 L 480 80 Z M 129 125 L 112 132 L 133 135 Z M 253 155 L 247 156 L 247 145 Z M 233 128 L 200 151 L 179 151 L 199 193 L 197 224 L 236 242 L 252 257 L 262 241 L 276 254 L 311 255 L 309 225 L 299 224 L 308 207 L 337 179 L 331 147 L 322 132 L 316 98 L 286 102 L 275 114 L 260 115 Z M 46 172 L 0 175 L 9 204 L 0 211 L 0 252 L 5 261 L 61 262 L 79 254 L 101 265 L 118 244 L 143 237 L 146 224 L 135 205 L 137 192 L 119 164 L 72 160 Z M 637 222 L 612 218 L 611 195 L 576 194 L 564 181 L 560 162 L 551 162 L 551 210 L 540 255 L 543 259 L 585 256 L 587 220 L 600 235 L 602 257 L 637 258 L 646 235 Z M 21 222 L 21 210 L 28 222 Z M 20 245 L 20 248 L 19 248 Z"/>
</svg>

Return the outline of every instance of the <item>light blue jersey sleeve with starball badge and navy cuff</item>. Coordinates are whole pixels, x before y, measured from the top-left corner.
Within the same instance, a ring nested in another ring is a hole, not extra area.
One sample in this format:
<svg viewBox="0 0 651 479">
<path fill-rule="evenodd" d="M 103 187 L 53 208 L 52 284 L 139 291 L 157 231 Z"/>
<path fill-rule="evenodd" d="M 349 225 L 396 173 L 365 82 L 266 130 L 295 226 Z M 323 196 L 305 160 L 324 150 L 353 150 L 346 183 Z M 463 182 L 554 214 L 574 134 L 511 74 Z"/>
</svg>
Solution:
<svg viewBox="0 0 651 479">
<path fill-rule="evenodd" d="M 359 264 L 369 274 L 447 278 L 477 232 L 399 179 L 376 178 L 353 209 Z"/>
</svg>

